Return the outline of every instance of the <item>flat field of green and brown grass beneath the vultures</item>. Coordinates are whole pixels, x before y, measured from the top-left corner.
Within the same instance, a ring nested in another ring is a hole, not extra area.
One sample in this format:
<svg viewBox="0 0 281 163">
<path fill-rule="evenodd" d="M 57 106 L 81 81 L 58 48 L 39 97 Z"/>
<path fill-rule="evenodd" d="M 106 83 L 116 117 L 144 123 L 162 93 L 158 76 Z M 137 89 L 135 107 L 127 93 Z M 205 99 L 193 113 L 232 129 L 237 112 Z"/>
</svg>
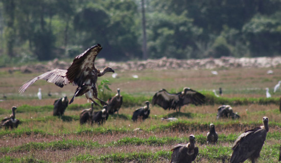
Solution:
<svg viewBox="0 0 281 163">
<path fill-rule="evenodd" d="M 264 116 L 269 118 L 269 132 L 258 162 L 278 162 L 281 89 L 273 93 L 273 87 L 281 80 L 281 69 L 273 68 L 274 74 L 266 74 L 267 70 L 269 68 L 223 69 L 217 70 L 218 75 L 210 70 L 146 70 L 117 72 L 118 78 L 108 73 L 98 83 L 109 79 L 112 92 L 106 91 L 107 96 L 121 89 L 125 103 L 120 115 L 109 116 L 102 126 L 81 126 L 79 113 L 90 107 L 84 96 L 77 97 L 64 116 L 52 116 L 54 100 L 63 95 L 71 98 L 76 87 L 59 88 L 38 80 L 25 93 L 18 94 L 22 83 L 39 74 L 9 74 L 7 68 L 0 69 L 1 93 L 7 96 L 7 100 L 0 102 L 0 118 L 10 115 L 15 105 L 17 119 L 21 121 L 14 130 L 0 129 L 0 162 L 169 162 L 170 150 L 188 142 L 190 134 L 195 135 L 199 148 L 195 162 L 229 162 L 233 142 L 244 130 L 262 125 Z M 133 78 L 133 74 L 139 78 Z M 36 96 L 39 87 L 42 100 Z M 158 90 L 179 92 L 184 87 L 197 90 L 214 101 L 202 106 L 184 106 L 179 114 L 151 106 L 147 120 L 131 121 L 133 111 L 144 106 L 145 100 L 151 100 Z M 218 92 L 219 87 L 223 89 L 223 97 L 217 98 L 212 90 Z M 270 99 L 265 98 L 266 87 L 270 88 Z M 233 104 L 233 111 L 238 112 L 241 119 L 216 120 L 218 106 L 229 104 L 226 101 Z M 163 117 L 176 117 L 179 121 L 161 121 Z M 210 123 L 216 125 L 219 134 L 216 145 L 206 144 Z M 140 129 L 134 131 L 135 128 Z"/>
</svg>

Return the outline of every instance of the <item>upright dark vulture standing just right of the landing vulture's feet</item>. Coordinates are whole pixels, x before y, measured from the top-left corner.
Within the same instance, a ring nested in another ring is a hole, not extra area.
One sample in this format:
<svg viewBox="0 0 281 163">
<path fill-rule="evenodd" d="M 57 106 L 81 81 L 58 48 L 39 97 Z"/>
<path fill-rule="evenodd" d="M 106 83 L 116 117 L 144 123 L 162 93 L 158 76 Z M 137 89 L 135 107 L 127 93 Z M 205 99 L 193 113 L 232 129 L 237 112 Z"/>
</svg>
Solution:
<svg viewBox="0 0 281 163">
<path fill-rule="evenodd" d="M 108 114 L 114 114 L 117 112 L 119 114 L 120 107 L 123 103 L 123 97 L 120 95 L 120 89 L 117 89 L 117 94 L 107 100 L 108 104 Z"/>
</svg>

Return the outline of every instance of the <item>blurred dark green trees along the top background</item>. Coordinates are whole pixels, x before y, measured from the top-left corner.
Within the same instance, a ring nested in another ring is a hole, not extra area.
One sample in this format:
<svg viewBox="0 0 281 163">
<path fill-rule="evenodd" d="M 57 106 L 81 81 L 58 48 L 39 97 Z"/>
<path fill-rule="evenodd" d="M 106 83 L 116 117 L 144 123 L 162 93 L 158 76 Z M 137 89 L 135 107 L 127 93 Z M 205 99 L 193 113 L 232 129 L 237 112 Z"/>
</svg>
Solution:
<svg viewBox="0 0 281 163">
<path fill-rule="evenodd" d="M 280 55 L 280 9 L 280 0 L 146 0 L 148 58 Z M 107 60 L 142 59 L 141 0 L 0 0 L 0 10 L 2 62 L 73 58 L 97 43 Z"/>
</svg>

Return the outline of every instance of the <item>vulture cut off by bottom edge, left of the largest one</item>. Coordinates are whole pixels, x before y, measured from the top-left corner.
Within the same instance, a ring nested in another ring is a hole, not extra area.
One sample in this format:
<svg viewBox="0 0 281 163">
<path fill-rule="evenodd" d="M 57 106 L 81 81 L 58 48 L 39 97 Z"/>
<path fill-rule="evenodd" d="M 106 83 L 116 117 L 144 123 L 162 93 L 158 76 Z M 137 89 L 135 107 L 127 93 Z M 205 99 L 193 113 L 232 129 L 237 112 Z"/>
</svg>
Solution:
<svg viewBox="0 0 281 163">
<path fill-rule="evenodd" d="M 171 151 L 173 151 L 171 163 L 191 163 L 195 160 L 199 152 L 198 147 L 195 146 L 195 137 L 193 134 L 189 136 L 188 144 L 176 145 Z"/>
</svg>

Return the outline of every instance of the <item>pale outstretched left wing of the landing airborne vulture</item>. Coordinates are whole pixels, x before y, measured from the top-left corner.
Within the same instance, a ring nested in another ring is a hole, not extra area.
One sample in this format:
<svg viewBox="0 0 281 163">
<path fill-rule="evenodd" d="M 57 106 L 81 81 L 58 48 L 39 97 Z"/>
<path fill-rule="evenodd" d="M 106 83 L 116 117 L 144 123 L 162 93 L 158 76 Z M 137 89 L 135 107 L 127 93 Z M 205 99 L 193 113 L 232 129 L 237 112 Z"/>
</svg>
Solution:
<svg viewBox="0 0 281 163">
<path fill-rule="evenodd" d="M 66 70 L 62 69 L 54 69 L 52 71 L 43 73 L 34 79 L 29 80 L 26 82 L 23 86 L 19 88 L 19 93 L 25 92 L 25 90 L 35 83 L 39 79 L 44 79 L 49 83 L 54 83 L 55 85 L 59 87 L 63 87 L 64 85 L 69 84 L 69 80 L 66 78 Z"/>
</svg>

